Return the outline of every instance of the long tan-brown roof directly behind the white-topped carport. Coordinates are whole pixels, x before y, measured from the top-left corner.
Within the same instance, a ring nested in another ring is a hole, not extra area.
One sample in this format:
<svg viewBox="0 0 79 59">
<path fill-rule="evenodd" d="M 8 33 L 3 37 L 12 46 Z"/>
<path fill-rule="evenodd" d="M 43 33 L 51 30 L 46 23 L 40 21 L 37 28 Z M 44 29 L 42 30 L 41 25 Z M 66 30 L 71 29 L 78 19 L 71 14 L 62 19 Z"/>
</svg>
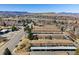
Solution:
<svg viewBox="0 0 79 59">
<path fill-rule="evenodd" d="M 40 44 L 53 44 L 53 45 L 70 45 L 73 44 L 72 41 L 70 40 L 65 40 L 65 39 L 53 39 L 53 40 L 32 40 L 30 42 L 33 45 L 40 45 Z"/>
</svg>

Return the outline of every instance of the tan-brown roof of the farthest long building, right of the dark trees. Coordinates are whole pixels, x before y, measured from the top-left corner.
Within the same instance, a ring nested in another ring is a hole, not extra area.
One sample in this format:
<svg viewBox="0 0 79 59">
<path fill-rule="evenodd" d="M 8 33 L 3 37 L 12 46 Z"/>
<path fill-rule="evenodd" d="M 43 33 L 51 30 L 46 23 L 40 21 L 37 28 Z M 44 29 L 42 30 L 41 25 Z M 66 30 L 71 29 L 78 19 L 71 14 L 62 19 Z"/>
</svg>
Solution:
<svg viewBox="0 0 79 59">
<path fill-rule="evenodd" d="M 34 26 L 33 32 L 61 32 L 55 25 Z"/>
</svg>

